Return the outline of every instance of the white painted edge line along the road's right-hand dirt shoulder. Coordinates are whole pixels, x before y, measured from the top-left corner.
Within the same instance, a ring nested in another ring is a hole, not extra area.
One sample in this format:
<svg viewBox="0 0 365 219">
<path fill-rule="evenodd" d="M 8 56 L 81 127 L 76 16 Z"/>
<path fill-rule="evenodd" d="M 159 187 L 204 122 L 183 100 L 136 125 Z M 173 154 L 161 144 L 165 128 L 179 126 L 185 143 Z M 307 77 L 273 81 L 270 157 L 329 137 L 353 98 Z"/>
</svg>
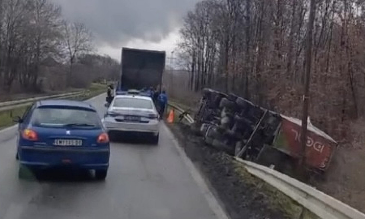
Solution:
<svg viewBox="0 0 365 219">
<path fill-rule="evenodd" d="M 201 176 L 200 171 L 195 167 L 190 158 L 186 155 L 184 149 L 180 146 L 180 143 L 176 140 L 172 131 L 163 123 L 163 126 L 172 138 L 172 142 L 174 143 L 175 148 L 177 149 L 180 157 L 183 159 L 184 164 L 187 166 L 190 175 L 193 177 L 195 183 L 198 185 L 200 192 L 203 194 L 204 198 L 207 200 L 209 207 L 214 212 L 214 214 L 219 219 L 230 219 L 227 212 L 224 210 L 221 201 L 217 199 L 217 197 L 213 194 L 209 186 L 207 185 L 206 180 L 204 180 L 203 176 Z"/>
</svg>

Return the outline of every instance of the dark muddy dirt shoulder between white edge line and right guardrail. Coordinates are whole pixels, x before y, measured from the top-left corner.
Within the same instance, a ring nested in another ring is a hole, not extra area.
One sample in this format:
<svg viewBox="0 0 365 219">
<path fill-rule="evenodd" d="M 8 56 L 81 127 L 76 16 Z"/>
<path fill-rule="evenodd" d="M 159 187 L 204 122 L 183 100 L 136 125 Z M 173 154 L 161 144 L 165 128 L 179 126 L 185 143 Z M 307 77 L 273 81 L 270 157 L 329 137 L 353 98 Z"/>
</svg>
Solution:
<svg viewBox="0 0 365 219">
<path fill-rule="evenodd" d="M 189 127 L 169 126 L 188 157 L 210 182 L 232 219 L 299 218 L 302 208 L 283 193 L 251 176 L 239 162 L 206 146 Z M 303 211 L 304 218 L 316 218 Z"/>
</svg>

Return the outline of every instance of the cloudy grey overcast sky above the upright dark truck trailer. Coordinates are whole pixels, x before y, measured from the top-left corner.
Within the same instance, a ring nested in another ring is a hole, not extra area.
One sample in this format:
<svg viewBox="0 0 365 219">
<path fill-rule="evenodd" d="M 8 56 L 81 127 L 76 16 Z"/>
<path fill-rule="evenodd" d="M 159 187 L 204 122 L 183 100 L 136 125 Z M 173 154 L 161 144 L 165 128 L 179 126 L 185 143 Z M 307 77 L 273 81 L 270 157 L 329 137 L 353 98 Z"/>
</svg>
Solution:
<svg viewBox="0 0 365 219">
<path fill-rule="evenodd" d="M 199 0 L 53 0 L 86 24 L 99 53 L 120 60 L 123 46 L 172 51 L 185 14 Z"/>
</svg>

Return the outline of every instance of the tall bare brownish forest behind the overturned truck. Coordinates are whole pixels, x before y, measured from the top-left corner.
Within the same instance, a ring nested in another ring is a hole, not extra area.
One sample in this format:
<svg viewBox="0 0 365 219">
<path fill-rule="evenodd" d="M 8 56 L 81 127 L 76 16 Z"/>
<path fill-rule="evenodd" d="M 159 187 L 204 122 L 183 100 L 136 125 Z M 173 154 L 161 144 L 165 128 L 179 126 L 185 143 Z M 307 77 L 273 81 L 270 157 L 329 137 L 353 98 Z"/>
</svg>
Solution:
<svg viewBox="0 0 365 219">
<path fill-rule="evenodd" d="M 204 0 L 178 45 L 190 89 L 212 87 L 300 118 L 309 0 Z M 337 138 L 365 114 L 365 3 L 316 1 L 310 117 Z"/>
</svg>

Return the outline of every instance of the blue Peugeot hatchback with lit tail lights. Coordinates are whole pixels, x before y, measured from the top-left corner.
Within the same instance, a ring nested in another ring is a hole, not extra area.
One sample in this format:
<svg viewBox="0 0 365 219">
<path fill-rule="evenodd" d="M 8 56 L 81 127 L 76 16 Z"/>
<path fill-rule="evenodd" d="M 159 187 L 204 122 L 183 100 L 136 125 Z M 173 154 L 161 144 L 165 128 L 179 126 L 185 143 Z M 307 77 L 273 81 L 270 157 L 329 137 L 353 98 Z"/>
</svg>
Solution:
<svg viewBox="0 0 365 219">
<path fill-rule="evenodd" d="M 92 105 L 71 100 L 42 100 L 33 104 L 19 123 L 17 154 L 22 168 L 71 167 L 107 176 L 110 144 Z"/>
</svg>

